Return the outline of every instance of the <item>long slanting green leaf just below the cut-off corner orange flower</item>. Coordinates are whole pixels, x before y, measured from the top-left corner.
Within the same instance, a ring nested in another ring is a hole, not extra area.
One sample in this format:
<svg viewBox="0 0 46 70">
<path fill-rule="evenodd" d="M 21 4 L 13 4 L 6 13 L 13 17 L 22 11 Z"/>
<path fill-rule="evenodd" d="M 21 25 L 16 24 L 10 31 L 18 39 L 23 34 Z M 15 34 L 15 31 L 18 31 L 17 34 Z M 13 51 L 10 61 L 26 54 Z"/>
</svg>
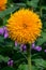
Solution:
<svg viewBox="0 0 46 70">
<path fill-rule="evenodd" d="M 11 14 L 12 12 L 16 11 L 17 9 L 19 9 L 19 6 L 11 6 L 9 9 L 6 9 L 5 11 L 0 12 L 0 17 L 4 17 L 5 15 Z"/>
</svg>

